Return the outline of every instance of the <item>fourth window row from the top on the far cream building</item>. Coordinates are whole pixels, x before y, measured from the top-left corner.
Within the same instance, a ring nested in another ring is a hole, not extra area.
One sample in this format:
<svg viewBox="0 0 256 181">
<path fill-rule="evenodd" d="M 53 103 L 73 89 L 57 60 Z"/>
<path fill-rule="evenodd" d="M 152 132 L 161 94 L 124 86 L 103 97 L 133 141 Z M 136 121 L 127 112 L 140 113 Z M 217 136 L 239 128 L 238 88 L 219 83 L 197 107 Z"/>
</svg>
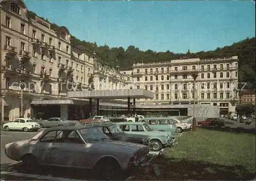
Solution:
<svg viewBox="0 0 256 181">
<path fill-rule="evenodd" d="M 206 95 L 206 97 L 205 97 Z M 161 100 L 169 100 L 170 99 L 170 95 L 169 94 L 161 94 L 160 95 Z M 226 93 L 225 97 L 224 97 L 224 93 L 219 93 L 219 95 L 217 93 L 201 93 L 201 99 L 230 99 L 230 93 Z M 159 100 L 159 94 L 155 94 L 155 99 Z M 174 99 L 179 99 L 179 96 L 177 93 L 174 94 Z M 182 99 L 188 99 L 188 94 L 187 93 L 183 93 L 182 94 Z M 194 99 L 194 94 L 192 94 L 192 99 Z M 147 99 L 145 99 L 147 100 Z M 152 99 L 151 99 L 152 100 Z"/>
</svg>

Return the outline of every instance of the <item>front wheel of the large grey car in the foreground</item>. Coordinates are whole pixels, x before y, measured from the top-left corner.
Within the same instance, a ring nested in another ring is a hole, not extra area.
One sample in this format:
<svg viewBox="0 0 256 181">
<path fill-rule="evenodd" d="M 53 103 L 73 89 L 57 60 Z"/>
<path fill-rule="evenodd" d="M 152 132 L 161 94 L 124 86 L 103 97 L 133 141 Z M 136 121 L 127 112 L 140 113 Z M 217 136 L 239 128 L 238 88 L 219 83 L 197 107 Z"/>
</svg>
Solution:
<svg viewBox="0 0 256 181">
<path fill-rule="evenodd" d="M 102 159 L 97 163 L 96 174 L 101 180 L 119 180 L 120 165 L 114 159 Z"/>
</svg>

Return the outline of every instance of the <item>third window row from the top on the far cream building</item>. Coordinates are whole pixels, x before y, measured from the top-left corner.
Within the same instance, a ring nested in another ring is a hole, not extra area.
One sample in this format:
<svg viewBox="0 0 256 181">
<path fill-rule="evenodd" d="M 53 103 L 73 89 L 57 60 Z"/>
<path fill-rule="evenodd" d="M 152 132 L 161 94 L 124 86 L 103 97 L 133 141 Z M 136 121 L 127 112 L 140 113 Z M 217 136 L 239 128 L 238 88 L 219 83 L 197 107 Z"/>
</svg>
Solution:
<svg viewBox="0 0 256 181">
<path fill-rule="evenodd" d="M 225 84 L 225 86 L 224 86 L 224 84 Z M 210 89 L 211 88 L 211 83 L 210 82 L 208 82 L 208 83 L 201 83 L 201 89 L 205 89 L 205 87 L 207 87 L 207 89 Z M 213 88 L 230 88 L 230 82 L 221 82 L 221 83 L 219 83 L 219 87 L 217 86 L 218 85 L 218 83 L 217 82 L 214 82 L 213 83 Z M 189 86 L 189 84 L 187 84 L 187 83 L 183 83 L 182 84 L 182 89 L 188 89 L 188 86 Z M 169 84 L 167 84 L 167 85 L 160 85 L 160 87 L 161 87 L 161 90 L 164 90 L 164 87 L 166 87 L 166 90 L 169 90 L 170 89 L 170 85 Z M 178 87 L 179 87 L 179 84 L 174 84 L 174 89 L 175 90 L 178 90 Z M 137 85 L 137 89 L 139 89 L 140 88 L 140 85 Z M 144 89 L 146 89 L 146 90 L 148 90 L 148 88 L 150 89 L 150 90 L 153 90 L 153 85 L 145 85 L 144 86 Z M 159 90 L 159 87 L 158 87 L 158 85 L 155 85 L 155 88 L 156 88 L 156 90 Z M 194 89 L 194 85 L 192 85 L 192 89 Z"/>
</svg>

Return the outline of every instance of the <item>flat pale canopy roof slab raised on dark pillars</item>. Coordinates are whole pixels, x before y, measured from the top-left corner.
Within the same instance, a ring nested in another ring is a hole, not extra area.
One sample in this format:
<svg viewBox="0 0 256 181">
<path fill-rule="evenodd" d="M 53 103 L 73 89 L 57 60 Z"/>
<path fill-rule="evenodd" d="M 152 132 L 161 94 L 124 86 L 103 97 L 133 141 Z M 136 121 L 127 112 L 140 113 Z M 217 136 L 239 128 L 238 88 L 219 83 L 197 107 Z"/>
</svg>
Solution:
<svg viewBox="0 0 256 181">
<path fill-rule="evenodd" d="M 154 93 L 145 89 L 118 89 L 118 90 L 81 90 L 68 92 L 70 98 L 83 99 L 137 99 L 154 98 Z"/>
</svg>

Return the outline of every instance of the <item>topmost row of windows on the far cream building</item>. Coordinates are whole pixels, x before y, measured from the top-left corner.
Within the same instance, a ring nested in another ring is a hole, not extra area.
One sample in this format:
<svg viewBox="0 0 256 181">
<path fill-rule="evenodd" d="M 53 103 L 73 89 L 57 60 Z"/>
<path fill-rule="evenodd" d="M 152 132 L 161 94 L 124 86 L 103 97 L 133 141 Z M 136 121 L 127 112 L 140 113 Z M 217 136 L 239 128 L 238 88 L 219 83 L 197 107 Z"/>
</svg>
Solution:
<svg viewBox="0 0 256 181">
<path fill-rule="evenodd" d="M 236 63 L 236 68 L 238 67 L 238 63 Z M 205 70 L 204 69 L 204 65 L 201 65 L 201 70 Z M 230 64 L 229 63 L 226 63 L 226 69 L 229 69 L 230 68 Z M 210 70 L 211 69 L 211 66 L 210 65 L 207 65 L 207 70 Z M 214 64 L 214 67 L 213 69 L 217 69 L 217 64 Z M 220 64 L 220 69 L 224 69 L 224 65 L 223 64 Z M 155 68 L 155 72 L 159 72 L 159 68 Z M 188 70 L 187 69 L 187 66 L 182 66 L 182 71 L 186 71 Z M 192 70 L 196 70 L 196 65 L 193 65 L 192 66 Z M 170 71 L 170 68 L 169 67 L 166 67 L 166 71 L 169 72 Z M 178 66 L 175 66 L 174 67 L 174 71 L 178 71 Z M 164 68 L 162 67 L 161 68 L 161 72 L 164 73 Z M 137 69 L 137 73 L 140 73 L 140 69 Z M 144 70 L 144 73 L 147 74 L 147 69 Z M 150 73 L 153 73 L 153 68 L 150 69 Z"/>
</svg>

